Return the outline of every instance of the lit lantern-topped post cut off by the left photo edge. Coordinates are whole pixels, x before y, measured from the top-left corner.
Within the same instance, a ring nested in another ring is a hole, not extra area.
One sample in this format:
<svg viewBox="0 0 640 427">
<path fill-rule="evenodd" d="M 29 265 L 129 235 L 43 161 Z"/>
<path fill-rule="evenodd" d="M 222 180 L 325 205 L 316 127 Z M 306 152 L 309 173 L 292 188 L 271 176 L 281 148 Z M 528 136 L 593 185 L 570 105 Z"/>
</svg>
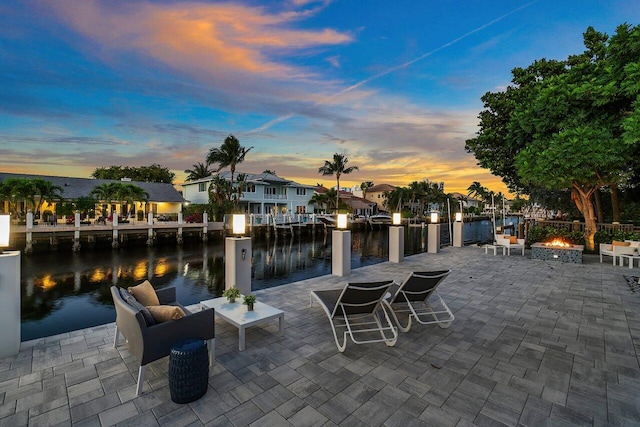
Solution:
<svg viewBox="0 0 640 427">
<path fill-rule="evenodd" d="M 20 251 L 9 247 L 11 217 L 0 215 L 0 358 L 20 351 Z"/>
</svg>

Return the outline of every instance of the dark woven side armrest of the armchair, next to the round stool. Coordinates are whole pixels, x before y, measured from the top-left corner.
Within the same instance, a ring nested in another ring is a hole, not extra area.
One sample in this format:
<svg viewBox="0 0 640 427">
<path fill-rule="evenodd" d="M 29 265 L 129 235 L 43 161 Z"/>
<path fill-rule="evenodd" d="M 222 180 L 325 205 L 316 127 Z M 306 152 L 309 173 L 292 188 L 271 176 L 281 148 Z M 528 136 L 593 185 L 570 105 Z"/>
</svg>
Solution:
<svg viewBox="0 0 640 427">
<path fill-rule="evenodd" d="M 184 338 L 215 338 L 214 309 L 185 316 L 180 320 L 170 320 L 143 329 L 144 354 L 141 365 L 158 360 L 171 352 L 171 346 Z"/>
</svg>

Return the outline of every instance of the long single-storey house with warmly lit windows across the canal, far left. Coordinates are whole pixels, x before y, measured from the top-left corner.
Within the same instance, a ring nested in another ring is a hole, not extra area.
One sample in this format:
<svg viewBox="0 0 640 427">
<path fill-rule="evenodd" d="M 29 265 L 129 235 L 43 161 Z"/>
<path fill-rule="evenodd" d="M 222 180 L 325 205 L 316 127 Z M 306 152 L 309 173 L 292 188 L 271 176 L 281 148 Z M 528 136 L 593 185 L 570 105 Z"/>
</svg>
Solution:
<svg viewBox="0 0 640 427">
<path fill-rule="evenodd" d="M 48 210 L 51 212 L 55 212 L 56 204 L 61 202 L 72 202 L 80 197 L 92 197 L 91 191 L 98 185 L 112 183 L 112 182 L 121 182 L 118 180 L 110 180 L 110 179 L 93 179 L 93 178 L 73 178 L 66 176 L 50 176 L 50 175 L 34 175 L 34 174 L 18 174 L 18 173 L 5 173 L 0 172 L 0 182 L 4 182 L 9 178 L 26 178 L 26 179 L 34 179 L 39 178 L 45 181 L 51 182 L 53 185 L 56 185 L 62 188 L 61 199 L 58 201 L 53 201 L 52 203 L 43 203 L 40 212 L 34 212 L 34 216 L 39 218 L 41 214 Z M 101 203 L 96 204 L 96 216 L 100 214 L 104 214 L 107 216 L 108 214 L 113 213 L 114 211 L 119 214 L 135 214 L 138 210 L 144 211 L 145 215 L 148 212 L 153 212 L 154 216 L 161 215 L 172 215 L 181 212 L 182 205 L 185 200 L 180 195 L 178 190 L 172 184 L 161 183 L 161 182 L 139 182 L 139 181 L 126 181 L 128 184 L 137 185 L 142 188 L 148 195 L 148 199 L 146 202 L 136 202 L 134 205 L 129 205 L 129 211 L 123 212 L 122 206 L 117 201 L 110 201 L 107 203 L 105 201 L 101 201 Z M 36 197 L 35 203 L 38 204 L 39 200 Z M 8 202 L 0 201 L 0 210 L 4 212 L 9 212 Z M 17 210 L 19 214 L 24 214 L 27 211 L 27 206 L 25 201 L 18 201 Z"/>
</svg>

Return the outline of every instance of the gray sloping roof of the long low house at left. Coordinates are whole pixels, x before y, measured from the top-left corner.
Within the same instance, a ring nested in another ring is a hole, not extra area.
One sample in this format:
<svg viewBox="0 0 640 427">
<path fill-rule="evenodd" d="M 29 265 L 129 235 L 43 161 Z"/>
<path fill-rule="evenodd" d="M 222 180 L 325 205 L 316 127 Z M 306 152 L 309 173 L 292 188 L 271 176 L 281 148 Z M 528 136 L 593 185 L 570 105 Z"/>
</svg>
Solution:
<svg viewBox="0 0 640 427">
<path fill-rule="evenodd" d="M 100 184 L 122 182 L 114 179 L 72 178 L 66 176 L 30 175 L 0 172 L 0 182 L 3 182 L 7 178 L 40 178 L 44 179 L 45 181 L 50 181 L 54 185 L 57 185 L 63 189 L 62 198 L 65 200 L 91 196 L 91 190 L 93 190 L 95 186 Z M 147 194 L 149 194 L 150 202 L 183 203 L 185 201 L 178 190 L 176 190 L 172 184 L 163 182 L 126 182 L 128 184 L 137 185 L 138 187 L 146 191 Z"/>
</svg>

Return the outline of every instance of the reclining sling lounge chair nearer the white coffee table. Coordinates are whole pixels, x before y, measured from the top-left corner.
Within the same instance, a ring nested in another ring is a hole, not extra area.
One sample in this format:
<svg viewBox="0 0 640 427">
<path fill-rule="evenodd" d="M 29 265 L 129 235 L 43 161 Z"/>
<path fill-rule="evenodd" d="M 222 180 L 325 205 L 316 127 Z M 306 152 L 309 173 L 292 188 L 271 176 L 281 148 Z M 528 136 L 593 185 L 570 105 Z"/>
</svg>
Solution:
<svg viewBox="0 0 640 427">
<path fill-rule="evenodd" d="M 347 337 L 355 344 L 384 342 L 389 347 L 396 344 L 398 330 L 391 323 L 391 308 L 384 300 L 392 284 L 390 280 L 348 283 L 342 289 L 311 291 L 309 306 L 313 306 L 314 299 L 322 306 L 338 351 L 347 348 Z"/>
</svg>

